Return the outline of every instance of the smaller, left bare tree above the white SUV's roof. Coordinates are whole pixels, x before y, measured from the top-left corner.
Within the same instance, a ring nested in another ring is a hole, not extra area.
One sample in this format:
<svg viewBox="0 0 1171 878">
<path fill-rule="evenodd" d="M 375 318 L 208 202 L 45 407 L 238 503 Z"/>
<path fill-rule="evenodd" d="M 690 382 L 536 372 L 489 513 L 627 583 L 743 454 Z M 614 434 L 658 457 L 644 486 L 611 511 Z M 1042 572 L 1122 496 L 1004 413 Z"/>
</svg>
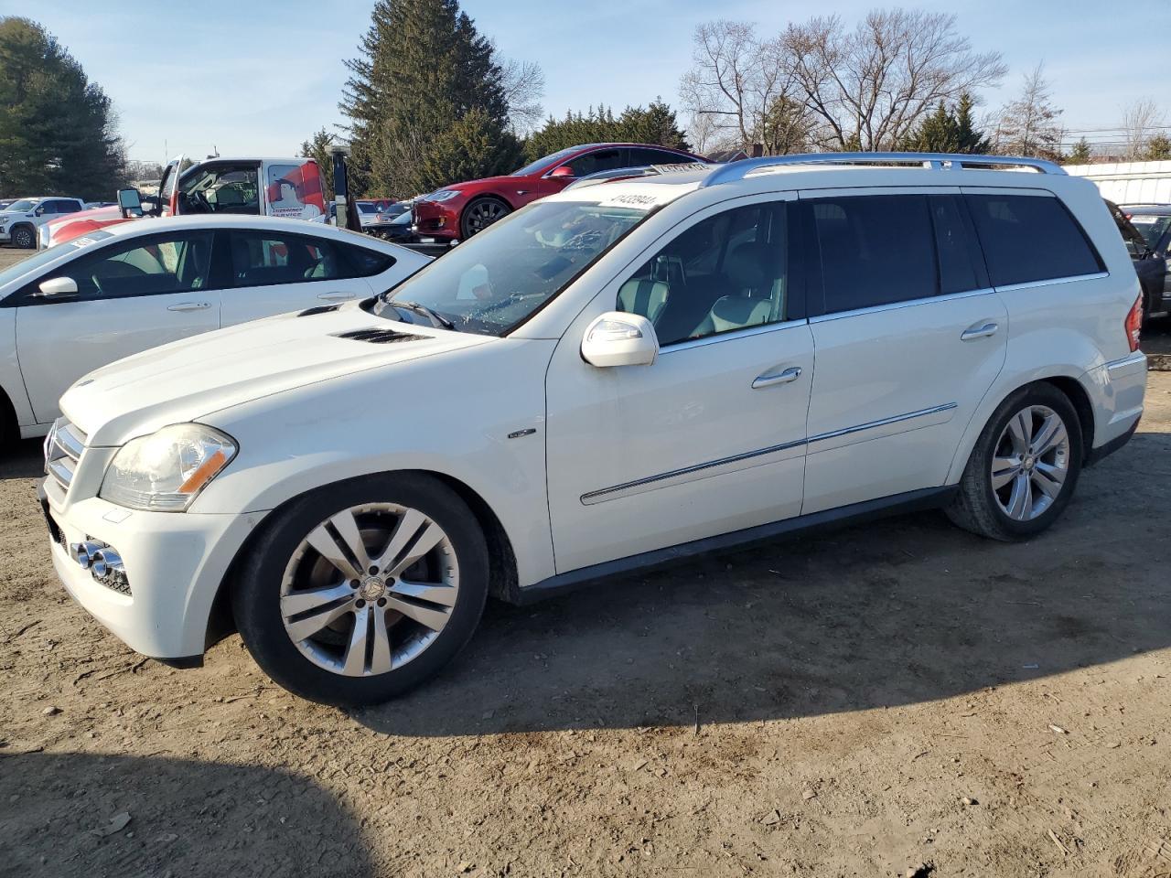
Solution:
<svg viewBox="0 0 1171 878">
<path fill-rule="evenodd" d="M 778 39 L 760 40 L 744 21 L 710 21 L 696 28 L 692 67 L 679 82 L 684 109 L 691 114 L 692 143 L 749 149 L 760 143 L 767 155 L 802 149 L 794 133 L 802 114 L 787 110 L 796 94 L 792 66 Z M 803 103 L 801 104 L 803 108 Z"/>
</svg>

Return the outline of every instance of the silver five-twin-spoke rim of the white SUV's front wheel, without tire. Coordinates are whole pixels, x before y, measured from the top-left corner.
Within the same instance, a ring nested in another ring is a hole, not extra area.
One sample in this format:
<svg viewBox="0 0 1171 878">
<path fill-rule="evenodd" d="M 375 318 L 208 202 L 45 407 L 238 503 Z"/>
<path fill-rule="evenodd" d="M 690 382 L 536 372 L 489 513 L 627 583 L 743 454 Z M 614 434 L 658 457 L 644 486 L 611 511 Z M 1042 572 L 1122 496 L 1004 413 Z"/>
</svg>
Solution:
<svg viewBox="0 0 1171 878">
<path fill-rule="evenodd" d="M 364 503 L 300 542 L 281 581 L 281 619 L 313 664 L 372 677 L 422 654 L 458 596 L 456 549 L 438 523 L 405 506 Z"/>
</svg>

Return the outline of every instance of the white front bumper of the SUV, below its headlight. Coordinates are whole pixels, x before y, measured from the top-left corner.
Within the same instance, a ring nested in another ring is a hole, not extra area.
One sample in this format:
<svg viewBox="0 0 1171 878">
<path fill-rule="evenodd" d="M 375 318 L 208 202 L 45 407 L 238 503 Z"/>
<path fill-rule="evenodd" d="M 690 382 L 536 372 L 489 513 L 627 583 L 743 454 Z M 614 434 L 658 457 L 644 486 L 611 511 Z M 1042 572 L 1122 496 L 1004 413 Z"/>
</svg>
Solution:
<svg viewBox="0 0 1171 878">
<path fill-rule="evenodd" d="M 233 558 L 265 513 L 155 513 L 100 498 L 68 503 L 46 480 L 37 491 L 60 531 L 53 567 L 69 595 L 130 649 L 159 659 L 201 656 L 212 606 Z M 101 584 L 69 555 L 85 540 L 122 556 L 130 595 Z"/>
</svg>

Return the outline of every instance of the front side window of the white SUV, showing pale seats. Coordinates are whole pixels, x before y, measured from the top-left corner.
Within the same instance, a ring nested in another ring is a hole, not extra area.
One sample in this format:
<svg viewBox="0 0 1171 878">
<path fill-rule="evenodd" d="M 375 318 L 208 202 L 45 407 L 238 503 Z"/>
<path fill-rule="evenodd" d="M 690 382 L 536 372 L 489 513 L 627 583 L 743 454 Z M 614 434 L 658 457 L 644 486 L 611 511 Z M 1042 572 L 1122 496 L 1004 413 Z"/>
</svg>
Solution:
<svg viewBox="0 0 1171 878">
<path fill-rule="evenodd" d="M 618 289 L 617 308 L 655 324 L 665 347 L 792 318 L 785 203 L 697 222 Z"/>
</svg>

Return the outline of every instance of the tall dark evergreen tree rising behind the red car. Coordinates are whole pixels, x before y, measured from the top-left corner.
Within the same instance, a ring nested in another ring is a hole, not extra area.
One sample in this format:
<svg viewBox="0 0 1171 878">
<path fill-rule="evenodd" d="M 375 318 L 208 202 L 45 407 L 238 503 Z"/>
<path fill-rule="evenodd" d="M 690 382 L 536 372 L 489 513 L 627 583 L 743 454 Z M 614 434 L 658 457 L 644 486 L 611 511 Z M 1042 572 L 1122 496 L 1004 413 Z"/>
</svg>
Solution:
<svg viewBox="0 0 1171 878">
<path fill-rule="evenodd" d="M 460 136 L 495 143 L 471 176 L 511 170 L 499 164 L 516 150 L 500 66 L 457 0 L 377 0 L 361 54 L 347 66 L 341 109 L 350 118 L 355 191 L 406 197 L 452 183 L 438 176 L 445 163 L 436 155 L 472 110 L 479 122 Z"/>
</svg>

